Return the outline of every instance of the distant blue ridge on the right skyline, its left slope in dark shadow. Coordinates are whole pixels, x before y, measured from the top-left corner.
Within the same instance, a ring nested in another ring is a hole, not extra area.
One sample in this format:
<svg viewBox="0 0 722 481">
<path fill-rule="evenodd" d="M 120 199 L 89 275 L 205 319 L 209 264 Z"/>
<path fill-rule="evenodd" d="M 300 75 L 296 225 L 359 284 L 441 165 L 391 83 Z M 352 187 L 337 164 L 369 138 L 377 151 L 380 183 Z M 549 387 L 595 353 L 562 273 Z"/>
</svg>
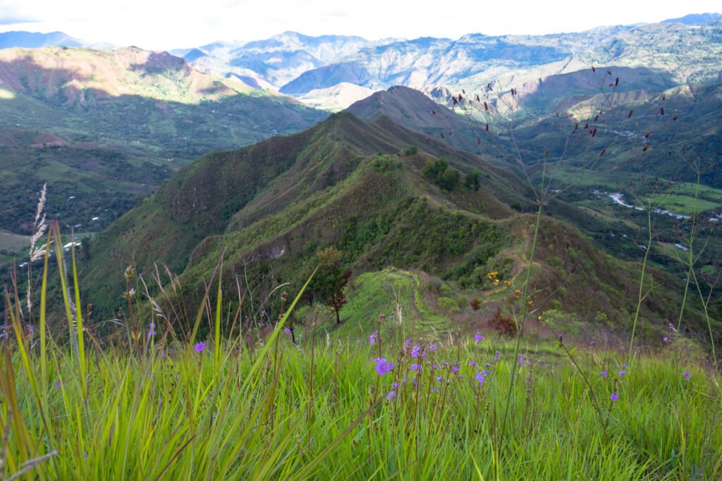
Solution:
<svg viewBox="0 0 722 481">
<path fill-rule="evenodd" d="M 592 65 L 658 69 L 680 83 L 718 81 L 722 32 L 713 25 L 653 24 L 544 36 L 404 40 L 366 47 L 342 61 L 306 71 L 280 92 L 302 94 L 340 81 L 373 89 L 405 85 L 478 92 L 489 82 L 510 89 Z"/>
</svg>

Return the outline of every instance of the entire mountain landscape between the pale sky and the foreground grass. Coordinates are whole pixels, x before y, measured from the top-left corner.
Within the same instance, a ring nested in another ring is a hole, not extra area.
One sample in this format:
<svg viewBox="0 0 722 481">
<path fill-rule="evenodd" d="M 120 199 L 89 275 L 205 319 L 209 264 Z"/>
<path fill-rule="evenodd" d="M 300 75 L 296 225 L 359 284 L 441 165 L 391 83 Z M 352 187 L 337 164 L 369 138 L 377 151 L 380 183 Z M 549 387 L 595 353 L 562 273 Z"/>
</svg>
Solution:
<svg viewBox="0 0 722 481">
<path fill-rule="evenodd" d="M 417 276 L 413 315 L 438 320 L 451 309 L 440 297 L 459 311 L 479 292 L 484 312 L 513 301 L 542 205 L 539 308 L 625 330 L 653 215 L 650 275 L 664 288 L 642 315 L 661 332 L 691 208 L 710 233 L 700 276 L 722 256 L 722 22 L 677 20 L 458 40 L 285 32 L 175 55 L 0 50 L 0 229 L 27 233 L 51 180 L 56 218 L 97 222 L 81 261 L 101 316 L 122 301 L 129 262 L 144 278 L 178 273 L 159 309 L 191 309 L 220 259 L 225 291 L 245 283 L 265 299 L 297 291 L 337 247 L 355 275 Z M 509 285 L 490 286 L 490 271 Z M 347 320 L 366 322 L 357 314 Z"/>
</svg>

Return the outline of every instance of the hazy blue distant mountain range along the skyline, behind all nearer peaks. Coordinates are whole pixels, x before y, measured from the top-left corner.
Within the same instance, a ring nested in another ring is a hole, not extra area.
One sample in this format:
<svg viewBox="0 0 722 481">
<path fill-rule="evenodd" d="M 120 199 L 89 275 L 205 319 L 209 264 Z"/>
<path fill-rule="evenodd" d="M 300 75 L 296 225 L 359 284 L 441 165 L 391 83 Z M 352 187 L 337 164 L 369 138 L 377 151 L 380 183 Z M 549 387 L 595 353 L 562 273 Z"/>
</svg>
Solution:
<svg viewBox="0 0 722 481">
<path fill-rule="evenodd" d="M 647 68 L 678 83 L 719 81 L 718 14 L 659 24 L 600 27 L 554 35 L 469 34 L 458 40 L 366 41 L 284 32 L 245 45 L 174 50 L 194 65 L 238 76 L 254 87 L 303 95 L 346 82 L 370 89 L 405 85 L 479 91 L 596 66 Z"/>
</svg>

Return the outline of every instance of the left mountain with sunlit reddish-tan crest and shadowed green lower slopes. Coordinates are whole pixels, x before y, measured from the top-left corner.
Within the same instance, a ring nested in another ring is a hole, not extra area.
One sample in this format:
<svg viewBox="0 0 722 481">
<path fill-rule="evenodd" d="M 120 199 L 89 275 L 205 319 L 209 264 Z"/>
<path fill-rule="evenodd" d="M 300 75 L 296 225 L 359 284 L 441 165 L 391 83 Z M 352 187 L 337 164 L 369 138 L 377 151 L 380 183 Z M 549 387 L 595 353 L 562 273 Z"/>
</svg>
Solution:
<svg viewBox="0 0 722 481">
<path fill-rule="evenodd" d="M 103 229 L 197 156 L 326 115 L 165 52 L 0 50 L 0 228 L 27 234 L 48 182 L 53 219 Z"/>
</svg>

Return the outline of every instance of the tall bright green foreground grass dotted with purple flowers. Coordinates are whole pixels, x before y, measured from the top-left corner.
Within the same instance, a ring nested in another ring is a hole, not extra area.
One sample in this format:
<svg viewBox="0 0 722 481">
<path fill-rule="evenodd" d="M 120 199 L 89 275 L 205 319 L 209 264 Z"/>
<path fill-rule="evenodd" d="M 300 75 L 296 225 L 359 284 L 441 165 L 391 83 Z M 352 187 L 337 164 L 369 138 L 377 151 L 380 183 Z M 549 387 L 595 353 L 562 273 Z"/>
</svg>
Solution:
<svg viewBox="0 0 722 481">
<path fill-rule="evenodd" d="M 77 288 L 77 272 L 72 277 Z M 4 339 L 0 362 L 2 475 L 722 477 L 718 378 L 675 348 L 639 358 L 633 370 L 621 372 L 621 356 L 601 351 L 573 358 L 575 367 L 562 350 L 518 340 L 404 343 L 379 319 L 373 344 L 328 338 L 313 340 L 306 350 L 283 330 L 298 299 L 256 346 L 218 328 L 208 347 L 199 347 L 205 343 L 195 337 L 187 343 L 160 340 L 138 358 L 132 344 L 101 350 L 80 339 L 58 345 L 44 331 L 28 332 L 6 296 L 15 335 L 14 342 Z M 219 325 L 218 311 L 199 312 L 196 327 L 204 316 Z M 77 314 L 66 315 L 73 325 Z M 73 334 L 84 337 L 80 329 Z M 393 369 L 376 369 L 379 358 Z M 513 376 L 519 381 L 513 383 Z M 606 435 L 588 402 L 590 387 L 602 400 Z M 510 404 L 516 408 L 507 410 Z M 508 422 L 502 423 L 506 412 Z"/>
</svg>

